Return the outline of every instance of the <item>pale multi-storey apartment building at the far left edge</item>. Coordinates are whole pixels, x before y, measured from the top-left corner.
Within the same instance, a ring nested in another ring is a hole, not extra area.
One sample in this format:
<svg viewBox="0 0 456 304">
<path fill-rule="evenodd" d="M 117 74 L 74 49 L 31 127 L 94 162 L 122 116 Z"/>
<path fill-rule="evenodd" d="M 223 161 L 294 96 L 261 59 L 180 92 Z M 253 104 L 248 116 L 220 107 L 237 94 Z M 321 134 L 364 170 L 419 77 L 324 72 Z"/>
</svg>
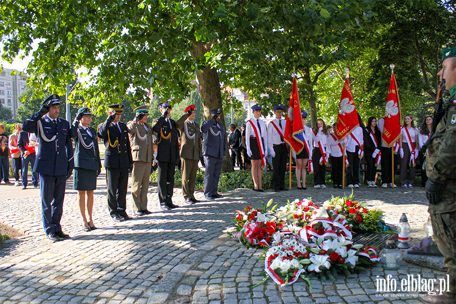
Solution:
<svg viewBox="0 0 456 304">
<path fill-rule="evenodd" d="M 8 107 L 16 117 L 16 110 L 20 105 L 19 95 L 25 91 L 27 85 L 27 75 L 19 76 L 19 71 L 11 75 L 14 69 L 4 68 L 0 72 L 0 104 Z"/>
</svg>

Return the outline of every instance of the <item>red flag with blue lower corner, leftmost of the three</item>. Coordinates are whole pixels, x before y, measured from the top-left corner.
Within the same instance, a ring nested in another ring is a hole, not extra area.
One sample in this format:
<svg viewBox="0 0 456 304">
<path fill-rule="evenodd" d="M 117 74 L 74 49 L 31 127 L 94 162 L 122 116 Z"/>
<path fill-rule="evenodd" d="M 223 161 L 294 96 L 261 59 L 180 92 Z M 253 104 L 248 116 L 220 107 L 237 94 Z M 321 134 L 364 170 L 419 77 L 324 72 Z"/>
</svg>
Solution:
<svg viewBox="0 0 456 304">
<path fill-rule="evenodd" d="M 284 140 L 291 146 L 294 153 L 301 153 L 304 148 L 304 127 L 302 126 L 301 107 L 297 93 L 296 77 L 293 77 L 290 104 L 287 111 Z"/>
</svg>

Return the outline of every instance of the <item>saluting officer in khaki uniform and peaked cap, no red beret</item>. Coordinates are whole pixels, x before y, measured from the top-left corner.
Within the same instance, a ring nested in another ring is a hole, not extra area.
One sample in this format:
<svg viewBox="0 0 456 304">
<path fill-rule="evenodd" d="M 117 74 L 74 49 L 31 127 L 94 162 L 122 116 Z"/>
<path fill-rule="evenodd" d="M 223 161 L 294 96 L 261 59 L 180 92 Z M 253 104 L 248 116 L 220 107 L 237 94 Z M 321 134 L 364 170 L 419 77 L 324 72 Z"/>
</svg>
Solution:
<svg viewBox="0 0 456 304">
<path fill-rule="evenodd" d="M 142 119 L 148 115 L 148 106 L 143 105 L 134 109 Z M 140 119 L 139 119 L 140 120 Z M 147 191 L 149 189 L 150 169 L 153 159 L 152 127 L 148 123 L 139 123 L 138 116 L 127 124 L 130 137 L 133 170 L 131 172 L 131 198 L 136 215 L 149 214 L 147 210 Z"/>
</svg>

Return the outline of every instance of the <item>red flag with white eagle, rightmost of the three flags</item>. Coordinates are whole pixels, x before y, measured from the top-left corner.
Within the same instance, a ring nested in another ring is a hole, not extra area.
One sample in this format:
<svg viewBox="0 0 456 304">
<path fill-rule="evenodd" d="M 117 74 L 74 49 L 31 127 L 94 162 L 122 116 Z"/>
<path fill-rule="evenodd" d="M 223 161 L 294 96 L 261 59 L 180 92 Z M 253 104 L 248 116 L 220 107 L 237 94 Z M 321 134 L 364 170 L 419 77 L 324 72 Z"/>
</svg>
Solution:
<svg viewBox="0 0 456 304">
<path fill-rule="evenodd" d="M 385 125 L 383 127 L 382 140 L 391 147 L 401 135 L 401 107 L 397 92 L 396 77 L 391 74 L 390 90 L 385 107 Z"/>
</svg>

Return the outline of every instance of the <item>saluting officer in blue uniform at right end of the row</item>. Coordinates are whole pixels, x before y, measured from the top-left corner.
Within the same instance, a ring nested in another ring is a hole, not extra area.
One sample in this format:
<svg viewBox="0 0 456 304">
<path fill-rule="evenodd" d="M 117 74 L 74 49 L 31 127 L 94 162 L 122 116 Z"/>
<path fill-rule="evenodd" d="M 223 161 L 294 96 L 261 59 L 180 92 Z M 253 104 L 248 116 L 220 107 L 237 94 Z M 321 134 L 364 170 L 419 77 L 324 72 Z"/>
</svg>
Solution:
<svg viewBox="0 0 456 304">
<path fill-rule="evenodd" d="M 218 191 L 218 180 L 226 154 L 225 128 L 220 124 L 221 109 L 210 110 L 211 119 L 204 121 L 201 126 L 203 132 L 203 156 L 206 163 L 204 171 L 204 196 L 206 199 L 221 198 Z"/>
</svg>

